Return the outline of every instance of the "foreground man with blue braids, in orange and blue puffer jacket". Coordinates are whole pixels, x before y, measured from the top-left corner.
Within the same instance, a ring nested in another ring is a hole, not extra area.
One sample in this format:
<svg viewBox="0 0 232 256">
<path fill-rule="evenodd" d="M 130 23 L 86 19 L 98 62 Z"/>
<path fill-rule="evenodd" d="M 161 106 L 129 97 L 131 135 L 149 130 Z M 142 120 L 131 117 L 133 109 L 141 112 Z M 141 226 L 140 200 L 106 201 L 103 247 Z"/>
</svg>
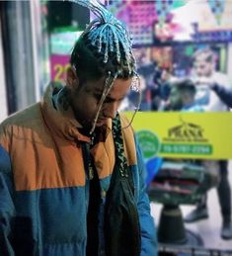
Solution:
<svg viewBox="0 0 232 256">
<path fill-rule="evenodd" d="M 138 89 L 124 26 L 98 19 L 71 54 L 67 85 L 0 126 L 0 255 L 156 255 L 141 152 L 116 110 Z"/>
</svg>

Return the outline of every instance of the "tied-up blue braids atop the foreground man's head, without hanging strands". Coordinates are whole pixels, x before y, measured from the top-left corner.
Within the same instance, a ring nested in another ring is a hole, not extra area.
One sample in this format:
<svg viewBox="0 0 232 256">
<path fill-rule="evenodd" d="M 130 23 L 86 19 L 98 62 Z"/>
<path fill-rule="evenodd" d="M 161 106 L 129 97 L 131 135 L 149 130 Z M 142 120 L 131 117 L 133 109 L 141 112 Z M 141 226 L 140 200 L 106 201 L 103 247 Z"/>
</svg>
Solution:
<svg viewBox="0 0 232 256">
<path fill-rule="evenodd" d="M 97 72 L 99 75 L 106 75 L 111 71 L 112 75 L 118 78 L 132 77 L 136 69 L 135 59 L 132 54 L 132 42 L 124 25 L 96 0 L 72 1 L 89 8 L 97 18 L 90 23 L 76 43 L 71 55 L 71 64 L 77 65 L 76 69 L 80 68 L 78 65 L 81 65 L 81 59 L 78 59 L 78 56 L 81 57 L 82 50 L 85 53 L 89 50 L 92 57 L 102 66 L 102 72 Z"/>
</svg>

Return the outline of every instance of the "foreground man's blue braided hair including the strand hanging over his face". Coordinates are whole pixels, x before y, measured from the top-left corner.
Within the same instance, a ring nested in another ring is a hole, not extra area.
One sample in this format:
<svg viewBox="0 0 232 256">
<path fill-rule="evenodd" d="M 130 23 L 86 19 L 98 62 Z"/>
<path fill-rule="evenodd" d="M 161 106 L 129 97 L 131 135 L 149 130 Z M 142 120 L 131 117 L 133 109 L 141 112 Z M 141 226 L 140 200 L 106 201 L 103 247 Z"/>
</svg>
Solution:
<svg viewBox="0 0 232 256">
<path fill-rule="evenodd" d="M 116 78 L 133 77 L 131 89 L 136 91 L 139 91 L 139 79 L 132 42 L 124 25 L 97 0 L 70 1 L 89 8 L 97 16 L 75 44 L 70 59 L 81 82 L 106 77 L 102 99 L 90 131 L 92 133 Z"/>
</svg>

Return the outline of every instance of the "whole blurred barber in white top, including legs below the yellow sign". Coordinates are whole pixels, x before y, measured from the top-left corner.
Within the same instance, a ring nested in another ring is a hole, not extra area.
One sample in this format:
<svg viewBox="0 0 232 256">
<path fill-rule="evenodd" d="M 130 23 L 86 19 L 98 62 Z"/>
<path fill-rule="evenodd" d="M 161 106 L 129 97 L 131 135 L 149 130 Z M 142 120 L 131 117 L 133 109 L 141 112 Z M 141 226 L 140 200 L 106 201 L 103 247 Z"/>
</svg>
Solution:
<svg viewBox="0 0 232 256">
<path fill-rule="evenodd" d="M 230 99 L 232 86 L 228 77 L 216 71 L 216 56 L 210 48 L 197 50 L 193 55 L 194 81 L 197 88 L 196 101 L 205 111 L 228 111 L 231 107 Z M 228 104 L 230 103 L 230 105 Z M 217 186 L 217 194 L 222 213 L 221 237 L 232 239 L 231 223 L 231 188 L 228 181 L 228 162 L 218 161 L 220 182 Z M 193 222 L 208 217 L 206 207 L 206 195 L 192 213 L 185 218 L 187 222 Z"/>
</svg>

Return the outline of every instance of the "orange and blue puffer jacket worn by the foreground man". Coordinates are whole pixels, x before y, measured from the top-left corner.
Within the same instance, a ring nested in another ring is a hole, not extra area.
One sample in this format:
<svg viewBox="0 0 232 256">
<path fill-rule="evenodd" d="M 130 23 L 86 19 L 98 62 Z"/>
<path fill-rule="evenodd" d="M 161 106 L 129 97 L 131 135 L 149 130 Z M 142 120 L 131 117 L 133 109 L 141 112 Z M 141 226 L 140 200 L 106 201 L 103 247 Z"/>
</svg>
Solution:
<svg viewBox="0 0 232 256">
<path fill-rule="evenodd" d="M 0 126 L 0 255 L 84 256 L 89 178 L 72 111 L 56 111 L 54 88 Z M 121 126 L 126 119 L 120 115 Z M 143 182 L 143 161 L 132 128 L 122 129 L 140 223 L 141 256 L 156 255 L 154 220 Z M 115 166 L 112 122 L 91 154 L 106 195 Z M 103 196 L 104 197 L 104 196 Z M 97 256 L 97 253 L 96 253 Z M 119 255 L 118 255 L 119 256 Z M 131 255 L 132 256 L 132 255 Z"/>
</svg>

